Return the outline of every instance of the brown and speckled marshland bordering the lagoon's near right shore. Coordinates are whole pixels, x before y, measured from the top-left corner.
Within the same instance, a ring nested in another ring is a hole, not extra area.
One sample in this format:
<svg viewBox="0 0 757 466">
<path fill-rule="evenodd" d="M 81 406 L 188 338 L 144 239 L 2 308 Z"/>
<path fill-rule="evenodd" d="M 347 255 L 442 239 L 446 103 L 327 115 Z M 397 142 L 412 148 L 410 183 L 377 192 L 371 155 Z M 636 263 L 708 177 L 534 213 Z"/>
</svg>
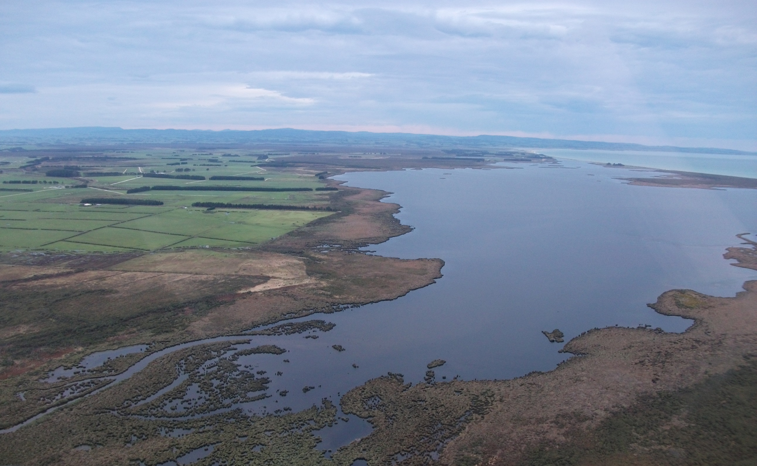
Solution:
<svg viewBox="0 0 757 466">
<path fill-rule="evenodd" d="M 728 248 L 724 256 L 739 259 L 734 266 L 757 269 L 754 244 L 751 249 Z M 450 465 L 525 464 L 534 449 L 557 449 L 572 441 L 581 445 L 574 439 L 640 397 L 701 384 L 739 368 L 757 353 L 757 281 L 746 281 L 736 297 L 668 290 L 650 307 L 695 323 L 681 334 L 651 328 L 592 329 L 565 345 L 562 352 L 573 356 L 557 368 L 507 381 L 410 386 L 391 375 L 368 381 L 347 393 L 343 409 L 368 418 L 374 433 L 340 453 L 367 450 L 363 458 L 369 464 L 384 464 L 400 453 L 438 455 L 439 464 Z M 383 405 L 366 409 L 366 400 L 376 396 Z M 466 402 L 461 404 L 463 396 Z M 459 416 L 484 398 L 474 418 L 460 426 Z M 436 411 L 425 414 L 417 407 L 418 399 L 425 400 L 424 406 L 432 403 Z M 429 441 L 428 429 L 441 441 Z M 382 448 L 388 445 L 397 446 L 391 455 Z"/>
</svg>

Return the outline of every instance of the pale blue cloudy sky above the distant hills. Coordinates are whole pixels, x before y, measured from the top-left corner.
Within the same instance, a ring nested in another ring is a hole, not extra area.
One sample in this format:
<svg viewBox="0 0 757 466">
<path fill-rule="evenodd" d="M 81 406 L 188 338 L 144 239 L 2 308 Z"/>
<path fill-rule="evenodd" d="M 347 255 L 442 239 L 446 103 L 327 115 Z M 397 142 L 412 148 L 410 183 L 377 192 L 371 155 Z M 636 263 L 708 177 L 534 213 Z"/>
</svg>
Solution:
<svg viewBox="0 0 757 466">
<path fill-rule="evenodd" d="M 0 129 L 757 150 L 757 2 L 2 2 Z"/>
</svg>

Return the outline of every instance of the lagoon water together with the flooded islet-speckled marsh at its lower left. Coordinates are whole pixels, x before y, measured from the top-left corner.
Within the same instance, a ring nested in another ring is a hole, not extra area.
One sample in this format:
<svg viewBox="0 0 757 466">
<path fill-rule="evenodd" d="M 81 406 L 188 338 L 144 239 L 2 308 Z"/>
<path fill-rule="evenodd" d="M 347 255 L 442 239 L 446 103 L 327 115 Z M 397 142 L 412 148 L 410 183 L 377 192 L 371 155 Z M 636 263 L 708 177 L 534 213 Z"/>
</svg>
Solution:
<svg viewBox="0 0 757 466">
<path fill-rule="evenodd" d="M 362 454 L 335 452 L 385 422 L 366 412 L 386 401 L 381 393 L 394 385 L 456 387 L 460 381 L 552 371 L 572 357 L 562 352 L 564 342 L 593 328 L 686 331 L 691 318 L 647 306 L 665 291 L 734 297 L 745 281 L 757 279 L 755 270 L 722 257 L 741 242 L 735 235 L 757 232 L 757 191 L 634 186 L 624 180 L 644 175 L 639 169 L 557 160 L 335 176 L 345 186 L 391 192 L 384 201 L 400 204 L 395 216 L 413 228 L 363 246 L 363 253 L 442 259 L 443 276 L 395 300 L 336 306 L 154 352 L 142 345 L 95 353 L 79 366 L 48 373 L 47 380 L 75 378 L 78 388 L 72 390 L 99 393 L 89 399 L 109 406 L 108 415 L 127 424 L 150 421 L 163 439 L 193 433 L 217 439 L 198 437 L 190 451 L 174 446 L 129 460 L 133 464 L 235 464 L 224 444 L 241 443 L 248 444 L 245 461 L 254 464 L 275 458 L 277 451 L 279 459 L 281 452 L 304 455 L 303 449 L 312 453 L 290 464 L 358 465 L 366 459 L 382 464 L 371 460 L 380 455 L 365 448 Z M 320 253 L 336 251 L 323 247 Z M 97 372 L 99 365 L 142 352 L 150 354 L 126 371 Z M 150 364 L 157 359 L 159 367 Z M 376 377 L 382 378 L 375 382 Z M 375 387 L 361 387 L 367 381 Z M 451 410 L 439 421 L 447 429 L 444 438 L 423 452 L 403 448 L 391 461 L 438 460 L 466 419 L 483 416 L 494 403 L 488 389 L 469 393 L 468 386 L 459 387 L 454 393 L 468 403 L 459 412 L 449 398 L 438 401 Z M 416 404 L 433 405 L 428 396 Z M 207 426 L 219 422 L 234 427 L 213 437 Z M 26 428 L 18 427 L 5 432 Z M 282 446 L 273 436 L 288 436 L 288 443 Z M 128 446 L 141 438 L 133 436 Z M 83 443 L 76 449 L 86 455 L 97 447 Z"/>
</svg>

